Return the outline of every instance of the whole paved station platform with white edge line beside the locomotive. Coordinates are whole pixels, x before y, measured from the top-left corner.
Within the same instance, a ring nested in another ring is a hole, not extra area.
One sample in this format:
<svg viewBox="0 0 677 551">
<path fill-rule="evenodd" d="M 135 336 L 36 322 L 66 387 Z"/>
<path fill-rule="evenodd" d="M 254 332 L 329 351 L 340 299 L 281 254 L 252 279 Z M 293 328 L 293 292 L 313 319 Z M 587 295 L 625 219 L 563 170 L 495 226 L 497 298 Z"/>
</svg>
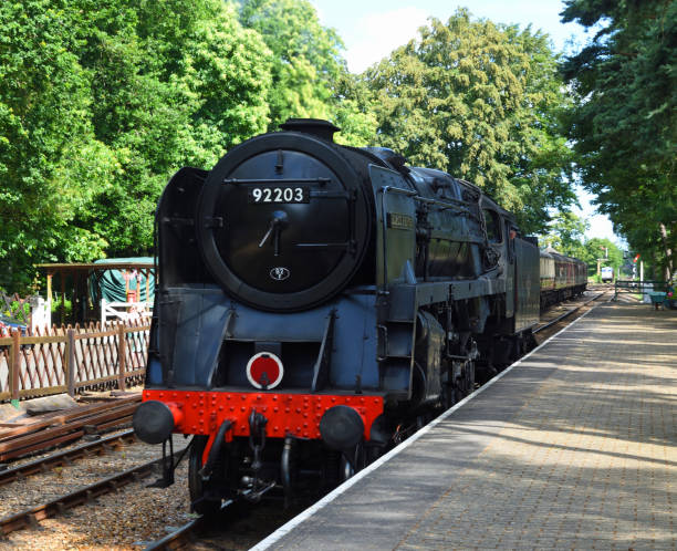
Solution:
<svg viewBox="0 0 677 551">
<path fill-rule="evenodd" d="M 253 549 L 677 548 L 677 312 L 602 303 L 499 377 Z"/>
</svg>

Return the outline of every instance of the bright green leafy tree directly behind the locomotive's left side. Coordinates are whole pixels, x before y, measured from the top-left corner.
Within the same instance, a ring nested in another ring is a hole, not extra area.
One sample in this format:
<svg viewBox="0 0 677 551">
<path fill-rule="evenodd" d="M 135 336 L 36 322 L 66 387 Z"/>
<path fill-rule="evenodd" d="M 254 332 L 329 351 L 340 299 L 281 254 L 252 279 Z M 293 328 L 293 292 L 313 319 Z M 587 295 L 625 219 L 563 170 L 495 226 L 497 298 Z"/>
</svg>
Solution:
<svg viewBox="0 0 677 551">
<path fill-rule="evenodd" d="M 265 128 L 270 52 L 217 0 L 82 1 L 93 30 L 81 53 L 92 73 L 92 122 L 121 165 L 83 225 L 106 237 L 111 254 L 149 252 L 153 212 L 171 174 L 211 167 Z"/>
</svg>

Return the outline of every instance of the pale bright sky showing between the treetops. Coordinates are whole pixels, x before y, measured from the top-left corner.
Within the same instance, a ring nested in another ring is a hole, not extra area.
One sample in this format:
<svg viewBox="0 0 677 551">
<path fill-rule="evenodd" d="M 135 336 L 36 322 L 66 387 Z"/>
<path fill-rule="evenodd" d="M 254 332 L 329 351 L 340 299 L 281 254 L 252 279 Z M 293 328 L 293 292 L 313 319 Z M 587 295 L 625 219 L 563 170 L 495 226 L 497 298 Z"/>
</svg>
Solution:
<svg viewBox="0 0 677 551">
<path fill-rule="evenodd" d="M 344 56 L 348 69 L 360 73 L 387 56 L 393 50 L 416 35 L 419 27 L 434 17 L 446 21 L 459 8 L 468 8 L 475 18 L 497 23 L 519 24 L 542 30 L 558 52 L 574 52 L 591 38 L 577 23 L 560 22 L 564 4 L 559 0 L 310 0 L 320 21 L 334 28 L 345 44 Z M 582 210 L 574 211 L 587 220 L 586 238 L 607 238 L 619 245 L 606 216 L 597 215 L 591 205 L 594 197 L 579 190 Z"/>
</svg>

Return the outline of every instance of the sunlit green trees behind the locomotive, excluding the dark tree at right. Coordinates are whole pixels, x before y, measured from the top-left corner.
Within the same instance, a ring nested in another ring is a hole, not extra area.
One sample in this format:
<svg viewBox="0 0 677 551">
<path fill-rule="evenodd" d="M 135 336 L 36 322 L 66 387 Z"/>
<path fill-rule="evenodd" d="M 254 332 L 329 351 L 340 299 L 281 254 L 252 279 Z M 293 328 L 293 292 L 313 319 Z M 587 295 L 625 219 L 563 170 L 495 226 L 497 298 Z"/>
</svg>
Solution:
<svg viewBox="0 0 677 551">
<path fill-rule="evenodd" d="M 175 170 L 291 116 L 468 178 L 525 232 L 574 200 L 544 34 L 460 11 L 358 76 L 342 48 L 306 0 L 0 2 L 0 285 L 149 251 Z"/>
</svg>

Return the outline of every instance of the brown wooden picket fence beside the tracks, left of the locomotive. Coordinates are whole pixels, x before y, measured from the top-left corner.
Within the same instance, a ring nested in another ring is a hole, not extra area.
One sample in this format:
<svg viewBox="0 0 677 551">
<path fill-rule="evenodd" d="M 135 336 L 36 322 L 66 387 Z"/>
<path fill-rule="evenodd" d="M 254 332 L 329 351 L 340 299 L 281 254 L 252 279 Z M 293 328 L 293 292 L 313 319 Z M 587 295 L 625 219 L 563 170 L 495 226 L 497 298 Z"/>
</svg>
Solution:
<svg viewBox="0 0 677 551">
<path fill-rule="evenodd" d="M 149 329 L 92 323 L 0 337 L 0 402 L 140 384 Z"/>
</svg>

